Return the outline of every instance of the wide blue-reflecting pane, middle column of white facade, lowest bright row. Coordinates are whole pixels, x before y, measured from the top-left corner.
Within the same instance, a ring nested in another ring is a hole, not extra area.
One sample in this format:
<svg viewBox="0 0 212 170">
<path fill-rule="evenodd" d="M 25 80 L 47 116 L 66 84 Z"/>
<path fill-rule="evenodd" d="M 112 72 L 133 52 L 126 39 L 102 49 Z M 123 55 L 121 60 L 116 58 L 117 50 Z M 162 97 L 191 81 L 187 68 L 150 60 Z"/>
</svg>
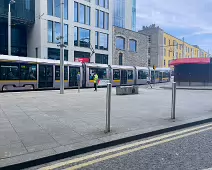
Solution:
<svg viewBox="0 0 212 170">
<path fill-rule="evenodd" d="M 90 47 L 90 30 L 79 28 L 80 47 Z"/>
</svg>

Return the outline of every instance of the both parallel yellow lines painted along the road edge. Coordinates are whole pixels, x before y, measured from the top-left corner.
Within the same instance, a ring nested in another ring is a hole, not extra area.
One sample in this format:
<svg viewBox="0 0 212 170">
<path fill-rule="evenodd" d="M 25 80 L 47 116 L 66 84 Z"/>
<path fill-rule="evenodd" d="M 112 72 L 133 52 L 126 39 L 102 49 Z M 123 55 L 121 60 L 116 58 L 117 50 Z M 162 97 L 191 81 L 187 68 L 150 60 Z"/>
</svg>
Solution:
<svg viewBox="0 0 212 170">
<path fill-rule="evenodd" d="M 202 126 L 197 126 L 194 128 L 189 128 L 185 130 L 181 130 L 179 132 L 170 133 L 167 135 L 158 136 L 152 139 L 142 140 L 139 142 L 127 144 L 124 146 L 116 147 L 114 149 L 108 149 L 99 153 L 93 153 L 87 156 L 75 158 L 69 161 L 60 162 L 54 165 L 50 165 L 47 167 L 43 167 L 40 170 L 54 170 L 57 168 L 63 168 L 68 167 L 67 170 L 75 170 L 80 169 L 83 167 L 87 167 L 89 165 L 93 165 L 98 162 L 106 161 L 112 158 L 116 158 L 119 156 L 123 156 L 132 152 L 136 152 L 139 150 L 143 150 L 152 146 L 164 144 L 167 142 L 171 142 L 177 139 L 181 139 L 187 136 L 191 136 L 194 134 L 198 134 L 207 130 L 212 130 L 212 123 L 211 124 L 205 124 Z M 78 164 L 77 164 L 78 163 Z M 72 164 L 75 164 L 71 166 Z"/>
</svg>

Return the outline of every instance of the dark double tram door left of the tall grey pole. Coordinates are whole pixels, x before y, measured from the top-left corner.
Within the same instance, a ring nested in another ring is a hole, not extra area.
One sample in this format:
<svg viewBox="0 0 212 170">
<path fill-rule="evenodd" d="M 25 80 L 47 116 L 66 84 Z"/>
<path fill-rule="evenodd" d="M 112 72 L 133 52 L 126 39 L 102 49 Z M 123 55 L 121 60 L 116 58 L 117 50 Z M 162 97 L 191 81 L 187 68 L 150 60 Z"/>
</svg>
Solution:
<svg viewBox="0 0 212 170">
<path fill-rule="evenodd" d="M 53 87 L 53 66 L 39 65 L 39 88 Z"/>
</svg>

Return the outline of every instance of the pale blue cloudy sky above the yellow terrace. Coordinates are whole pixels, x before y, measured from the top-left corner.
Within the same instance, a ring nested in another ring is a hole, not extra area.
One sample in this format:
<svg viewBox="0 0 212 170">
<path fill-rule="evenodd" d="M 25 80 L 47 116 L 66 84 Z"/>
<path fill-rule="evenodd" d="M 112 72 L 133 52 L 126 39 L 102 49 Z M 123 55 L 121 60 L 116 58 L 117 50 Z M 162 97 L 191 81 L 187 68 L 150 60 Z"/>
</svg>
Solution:
<svg viewBox="0 0 212 170">
<path fill-rule="evenodd" d="M 137 0 L 137 30 L 156 24 L 212 53 L 212 0 Z"/>
</svg>

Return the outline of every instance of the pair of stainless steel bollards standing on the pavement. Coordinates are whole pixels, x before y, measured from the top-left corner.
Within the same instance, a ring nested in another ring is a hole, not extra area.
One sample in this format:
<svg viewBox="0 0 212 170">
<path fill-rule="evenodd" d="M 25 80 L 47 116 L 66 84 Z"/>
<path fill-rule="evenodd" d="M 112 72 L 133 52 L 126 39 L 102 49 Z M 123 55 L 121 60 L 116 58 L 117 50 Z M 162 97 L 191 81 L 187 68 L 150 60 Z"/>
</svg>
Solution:
<svg viewBox="0 0 212 170">
<path fill-rule="evenodd" d="M 110 132 L 110 112 L 111 112 L 111 90 L 112 84 L 107 84 L 106 94 L 106 128 L 105 133 Z M 175 106 L 176 106 L 176 82 L 172 83 L 172 104 L 171 104 L 171 119 L 175 119 Z"/>
</svg>

